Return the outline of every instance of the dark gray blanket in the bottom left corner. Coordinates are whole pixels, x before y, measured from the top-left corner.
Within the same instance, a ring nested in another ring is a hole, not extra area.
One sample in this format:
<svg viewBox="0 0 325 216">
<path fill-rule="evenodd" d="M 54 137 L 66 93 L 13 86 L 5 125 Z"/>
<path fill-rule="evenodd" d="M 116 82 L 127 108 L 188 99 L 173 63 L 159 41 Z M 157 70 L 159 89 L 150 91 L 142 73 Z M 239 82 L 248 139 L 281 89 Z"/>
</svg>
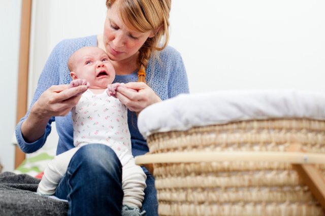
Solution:
<svg viewBox="0 0 325 216">
<path fill-rule="evenodd" d="M 67 215 L 68 203 L 40 196 L 40 179 L 26 174 L 0 174 L 0 215 Z"/>
</svg>

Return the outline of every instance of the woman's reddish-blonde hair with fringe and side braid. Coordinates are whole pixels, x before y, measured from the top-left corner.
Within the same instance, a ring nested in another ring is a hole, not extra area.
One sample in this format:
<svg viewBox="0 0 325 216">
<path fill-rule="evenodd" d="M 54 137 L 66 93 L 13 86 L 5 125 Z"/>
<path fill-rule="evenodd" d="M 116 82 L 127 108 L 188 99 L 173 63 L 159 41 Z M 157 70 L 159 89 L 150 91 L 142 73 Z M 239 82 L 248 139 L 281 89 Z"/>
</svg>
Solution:
<svg viewBox="0 0 325 216">
<path fill-rule="evenodd" d="M 151 54 L 163 50 L 169 41 L 171 0 L 106 0 L 107 8 L 111 8 L 113 4 L 118 4 L 119 16 L 129 28 L 139 32 L 155 32 L 154 37 L 148 38 L 139 49 L 137 59 L 138 82 L 145 83 L 145 69 Z M 164 39 L 162 45 L 161 39 Z"/>
</svg>

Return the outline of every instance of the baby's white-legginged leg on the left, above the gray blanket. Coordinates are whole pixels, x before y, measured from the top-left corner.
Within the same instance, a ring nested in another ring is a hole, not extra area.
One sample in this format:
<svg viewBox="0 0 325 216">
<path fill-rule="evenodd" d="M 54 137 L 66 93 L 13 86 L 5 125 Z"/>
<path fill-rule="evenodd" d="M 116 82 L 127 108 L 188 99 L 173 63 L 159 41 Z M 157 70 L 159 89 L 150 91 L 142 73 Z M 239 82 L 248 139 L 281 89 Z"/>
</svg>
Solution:
<svg viewBox="0 0 325 216">
<path fill-rule="evenodd" d="M 57 185 L 67 171 L 72 156 L 78 149 L 79 148 L 76 147 L 57 155 L 49 162 L 44 170 L 44 175 L 37 189 L 38 193 L 44 195 L 52 195 L 55 193 Z"/>
</svg>

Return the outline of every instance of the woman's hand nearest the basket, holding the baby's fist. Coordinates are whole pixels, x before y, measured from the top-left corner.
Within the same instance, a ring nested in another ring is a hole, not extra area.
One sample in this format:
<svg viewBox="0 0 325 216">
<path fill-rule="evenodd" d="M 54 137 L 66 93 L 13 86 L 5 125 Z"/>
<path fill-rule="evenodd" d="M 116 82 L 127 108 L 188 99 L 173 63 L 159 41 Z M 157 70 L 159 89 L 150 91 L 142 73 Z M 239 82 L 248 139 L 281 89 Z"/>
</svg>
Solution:
<svg viewBox="0 0 325 216">
<path fill-rule="evenodd" d="M 116 97 L 127 106 L 130 111 L 141 112 L 145 107 L 161 101 L 158 95 L 143 82 L 131 82 L 117 87 Z M 130 89 L 136 91 L 131 91 Z"/>
</svg>

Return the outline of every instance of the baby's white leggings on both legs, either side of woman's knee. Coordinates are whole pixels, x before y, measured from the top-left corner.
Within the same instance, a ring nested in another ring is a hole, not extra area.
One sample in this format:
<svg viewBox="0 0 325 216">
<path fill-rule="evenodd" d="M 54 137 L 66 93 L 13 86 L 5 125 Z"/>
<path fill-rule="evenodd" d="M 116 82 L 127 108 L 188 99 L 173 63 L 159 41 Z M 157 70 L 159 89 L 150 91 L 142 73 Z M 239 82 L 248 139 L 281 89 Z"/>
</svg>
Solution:
<svg viewBox="0 0 325 216">
<path fill-rule="evenodd" d="M 53 195 L 63 175 L 67 172 L 71 158 L 80 147 L 54 157 L 49 162 L 37 189 L 38 193 Z M 124 192 L 123 205 L 141 208 L 146 188 L 146 174 L 142 168 L 135 164 L 132 157 L 122 166 L 122 190 Z"/>
</svg>

